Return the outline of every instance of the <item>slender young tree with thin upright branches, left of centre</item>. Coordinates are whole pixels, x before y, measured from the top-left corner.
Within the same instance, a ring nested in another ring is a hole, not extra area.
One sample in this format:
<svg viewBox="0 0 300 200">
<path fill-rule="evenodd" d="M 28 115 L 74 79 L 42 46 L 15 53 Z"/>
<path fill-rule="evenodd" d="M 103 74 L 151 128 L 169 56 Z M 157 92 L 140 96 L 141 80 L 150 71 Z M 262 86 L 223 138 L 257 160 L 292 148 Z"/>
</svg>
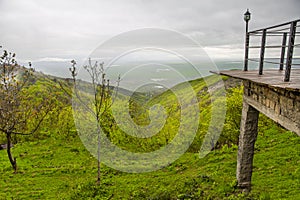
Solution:
<svg viewBox="0 0 300 200">
<path fill-rule="evenodd" d="M 90 114 L 92 114 L 94 121 L 97 123 L 97 160 L 98 160 L 98 174 L 97 174 L 97 184 L 100 184 L 101 178 L 101 168 L 100 168 L 100 131 L 101 124 L 103 120 L 105 120 L 105 115 L 107 114 L 109 108 L 114 103 L 114 97 L 112 97 L 112 87 L 110 86 L 109 79 L 106 78 L 104 63 L 92 62 L 89 59 L 88 64 L 83 68 L 89 74 L 90 83 L 89 86 L 92 88 L 92 102 L 88 103 L 83 99 L 83 96 L 80 94 L 79 89 L 77 88 L 77 69 L 76 69 L 76 61 L 71 61 L 72 66 L 69 68 L 73 81 L 74 81 L 74 94 L 73 98 L 76 98 L 77 102 L 81 104 L 81 106 Z M 120 83 L 120 76 L 116 81 L 115 86 L 115 95 L 117 95 L 118 87 Z"/>
</svg>

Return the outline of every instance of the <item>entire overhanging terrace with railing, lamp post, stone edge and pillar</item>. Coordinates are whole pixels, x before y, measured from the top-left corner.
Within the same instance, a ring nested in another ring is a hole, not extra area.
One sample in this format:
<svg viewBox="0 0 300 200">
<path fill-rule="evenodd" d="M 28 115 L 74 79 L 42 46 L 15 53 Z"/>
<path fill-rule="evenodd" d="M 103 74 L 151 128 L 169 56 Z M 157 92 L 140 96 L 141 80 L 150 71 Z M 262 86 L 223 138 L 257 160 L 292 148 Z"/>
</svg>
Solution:
<svg viewBox="0 0 300 200">
<path fill-rule="evenodd" d="M 244 69 L 215 72 L 243 80 L 236 177 L 238 186 L 245 191 L 251 189 L 259 112 L 300 136 L 300 58 L 295 55 L 295 49 L 300 45 L 296 37 L 299 36 L 300 19 L 248 32 L 249 20 L 247 11 Z M 252 44 L 250 37 L 259 38 L 259 44 Z M 270 44 L 272 42 L 275 44 Z M 251 49 L 259 51 L 258 58 L 249 58 Z M 279 56 L 266 57 L 266 49 L 272 49 L 271 55 L 277 53 Z M 258 70 L 249 70 L 248 62 L 257 62 Z M 265 63 L 274 64 L 275 69 L 264 70 Z"/>
</svg>

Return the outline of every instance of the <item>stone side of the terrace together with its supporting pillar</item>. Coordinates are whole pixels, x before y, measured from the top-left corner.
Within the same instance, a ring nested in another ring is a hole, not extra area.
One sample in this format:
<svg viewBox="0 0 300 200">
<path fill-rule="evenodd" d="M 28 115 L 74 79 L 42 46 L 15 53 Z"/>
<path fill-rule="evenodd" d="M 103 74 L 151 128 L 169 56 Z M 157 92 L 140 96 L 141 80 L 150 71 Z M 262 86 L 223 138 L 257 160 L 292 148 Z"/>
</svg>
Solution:
<svg viewBox="0 0 300 200">
<path fill-rule="evenodd" d="M 244 102 L 239 138 L 237 181 L 250 191 L 259 112 L 300 135 L 300 92 L 244 80 Z"/>
</svg>

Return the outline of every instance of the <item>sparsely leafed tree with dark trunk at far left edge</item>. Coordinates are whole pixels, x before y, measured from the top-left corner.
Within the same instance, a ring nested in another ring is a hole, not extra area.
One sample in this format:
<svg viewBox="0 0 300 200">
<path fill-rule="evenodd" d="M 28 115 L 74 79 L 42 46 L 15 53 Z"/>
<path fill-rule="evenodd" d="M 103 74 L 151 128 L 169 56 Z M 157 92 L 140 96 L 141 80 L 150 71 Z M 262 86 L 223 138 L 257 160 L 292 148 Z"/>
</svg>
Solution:
<svg viewBox="0 0 300 200">
<path fill-rule="evenodd" d="M 35 95 L 28 88 L 33 71 L 31 63 L 29 68 L 18 65 L 15 53 L 4 50 L 0 57 L 0 133 L 6 135 L 7 155 L 15 172 L 17 161 L 11 152 L 12 136 L 36 132 L 52 109 L 46 97 L 32 103 Z"/>
</svg>

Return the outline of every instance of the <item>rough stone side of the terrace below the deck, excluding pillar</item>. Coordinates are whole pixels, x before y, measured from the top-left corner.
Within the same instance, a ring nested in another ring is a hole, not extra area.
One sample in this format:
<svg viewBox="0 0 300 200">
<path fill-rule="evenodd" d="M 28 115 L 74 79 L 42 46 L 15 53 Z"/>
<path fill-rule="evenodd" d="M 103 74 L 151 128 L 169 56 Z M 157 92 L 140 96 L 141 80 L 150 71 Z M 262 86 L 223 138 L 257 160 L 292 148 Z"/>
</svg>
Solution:
<svg viewBox="0 0 300 200">
<path fill-rule="evenodd" d="M 300 135 L 300 92 L 244 80 L 248 103 L 288 130 Z"/>
</svg>

